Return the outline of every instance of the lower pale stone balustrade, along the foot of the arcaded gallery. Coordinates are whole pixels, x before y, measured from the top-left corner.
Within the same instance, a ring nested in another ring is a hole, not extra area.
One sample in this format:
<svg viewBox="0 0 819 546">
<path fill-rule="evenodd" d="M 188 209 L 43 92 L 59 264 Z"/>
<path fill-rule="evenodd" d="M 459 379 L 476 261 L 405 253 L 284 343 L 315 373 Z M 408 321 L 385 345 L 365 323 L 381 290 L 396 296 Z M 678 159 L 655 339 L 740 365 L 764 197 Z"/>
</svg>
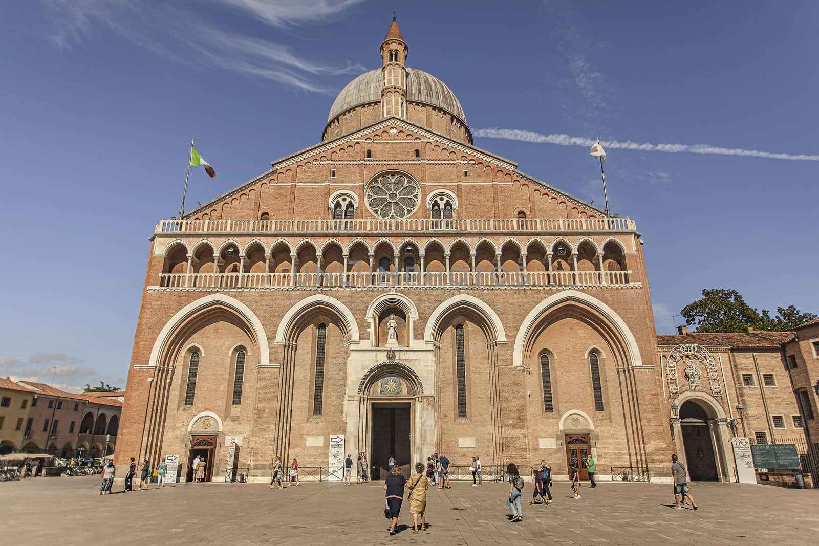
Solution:
<svg viewBox="0 0 819 546">
<path fill-rule="evenodd" d="M 160 288 L 622 286 L 631 271 L 450 271 L 450 273 L 161 273 Z"/>
</svg>

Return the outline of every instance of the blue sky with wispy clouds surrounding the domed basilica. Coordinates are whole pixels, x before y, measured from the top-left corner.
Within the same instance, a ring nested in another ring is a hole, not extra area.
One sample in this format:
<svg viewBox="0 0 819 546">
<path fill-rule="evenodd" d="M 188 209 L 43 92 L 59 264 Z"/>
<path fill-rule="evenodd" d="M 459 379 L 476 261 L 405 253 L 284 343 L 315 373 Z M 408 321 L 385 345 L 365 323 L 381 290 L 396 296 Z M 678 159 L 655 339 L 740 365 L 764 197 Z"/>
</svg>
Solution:
<svg viewBox="0 0 819 546">
<path fill-rule="evenodd" d="M 124 386 L 190 139 L 218 174 L 192 172 L 190 205 L 319 142 L 393 9 L 408 64 L 523 172 L 602 206 L 586 141 L 553 142 L 651 145 L 609 147 L 606 182 L 658 332 L 710 287 L 819 313 L 817 2 L 3 2 L 0 375 Z"/>
</svg>

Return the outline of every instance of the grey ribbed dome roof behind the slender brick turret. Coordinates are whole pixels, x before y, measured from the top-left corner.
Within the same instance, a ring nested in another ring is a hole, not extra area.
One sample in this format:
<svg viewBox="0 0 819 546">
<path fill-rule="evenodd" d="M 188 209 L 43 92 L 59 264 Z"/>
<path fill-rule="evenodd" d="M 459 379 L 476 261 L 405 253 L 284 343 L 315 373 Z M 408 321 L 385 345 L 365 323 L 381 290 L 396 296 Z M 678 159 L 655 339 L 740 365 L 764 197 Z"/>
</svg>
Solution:
<svg viewBox="0 0 819 546">
<path fill-rule="evenodd" d="M 443 108 L 459 117 L 464 124 L 466 123 L 464 109 L 461 108 L 455 93 L 452 93 L 450 88 L 446 87 L 446 83 L 423 70 L 409 67 L 406 70 L 408 102 L 423 102 Z M 333 107 L 330 108 L 328 122 L 354 106 L 381 102 L 382 87 L 380 68 L 364 72 L 358 78 L 347 83 L 342 92 L 338 93 L 338 97 L 333 102 Z"/>
</svg>

